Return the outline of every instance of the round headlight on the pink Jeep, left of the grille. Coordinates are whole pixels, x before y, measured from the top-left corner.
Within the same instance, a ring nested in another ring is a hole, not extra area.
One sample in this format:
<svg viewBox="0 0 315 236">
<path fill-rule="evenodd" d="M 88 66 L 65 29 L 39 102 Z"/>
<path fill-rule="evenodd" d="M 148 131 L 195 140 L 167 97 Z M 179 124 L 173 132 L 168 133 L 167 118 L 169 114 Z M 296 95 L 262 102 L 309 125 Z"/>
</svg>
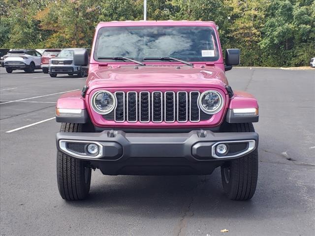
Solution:
<svg viewBox="0 0 315 236">
<path fill-rule="evenodd" d="M 95 112 L 105 115 L 113 111 L 116 106 L 116 99 L 111 92 L 101 90 L 94 93 L 91 103 Z"/>
</svg>

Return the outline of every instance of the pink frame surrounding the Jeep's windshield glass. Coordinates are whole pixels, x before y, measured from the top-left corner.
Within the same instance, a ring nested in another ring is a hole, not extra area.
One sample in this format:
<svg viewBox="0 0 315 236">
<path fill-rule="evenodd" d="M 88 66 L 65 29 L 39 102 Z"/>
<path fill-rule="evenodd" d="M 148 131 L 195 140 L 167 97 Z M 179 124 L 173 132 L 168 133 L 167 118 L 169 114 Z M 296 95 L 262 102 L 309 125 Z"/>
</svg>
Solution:
<svg viewBox="0 0 315 236">
<path fill-rule="evenodd" d="M 110 28 L 110 27 L 147 27 L 147 28 L 150 28 L 150 27 L 202 27 L 202 28 L 210 28 L 211 30 L 213 30 L 213 34 L 214 34 L 214 43 L 215 43 L 215 47 L 218 51 L 218 57 L 216 60 L 204 60 L 204 61 L 200 61 L 200 60 L 189 60 L 190 63 L 192 64 L 208 64 L 208 63 L 211 63 L 211 64 L 215 64 L 215 63 L 223 63 L 223 57 L 222 57 L 222 50 L 221 50 L 221 42 L 220 42 L 220 38 L 219 38 L 219 34 L 218 34 L 218 30 L 217 28 L 215 28 L 214 26 L 214 23 L 211 22 L 210 24 L 206 25 L 205 23 L 209 23 L 209 22 L 185 22 L 185 23 L 190 23 L 190 24 L 163 24 L 163 22 L 159 22 L 160 24 L 141 24 L 141 25 L 138 25 L 138 24 L 123 24 L 123 25 L 120 25 L 119 23 L 121 22 L 118 22 L 118 24 L 116 25 L 107 25 L 108 23 L 105 23 L 106 25 L 104 26 L 100 26 L 101 23 L 97 26 L 96 28 L 96 32 L 97 34 L 95 34 L 95 40 L 94 40 L 94 43 L 93 43 L 93 57 L 91 57 L 91 62 L 90 63 L 97 63 L 97 64 L 132 64 L 133 62 L 126 62 L 126 61 L 111 61 L 111 60 L 102 60 L 102 59 L 98 59 L 97 58 L 97 39 L 99 38 L 100 36 L 100 33 L 101 33 L 101 29 L 103 28 Z M 133 22 L 135 23 L 135 22 Z M 136 23 L 139 23 L 139 22 L 136 22 Z M 196 24 L 197 23 L 197 24 Z M 200 24 L 201 23 L 201 24 Z M 181 58 L 179 58 L 181 59 Z M 161 61 L 161 60 L 153 60 L 153 61 L 150 61 L 150 60 L 139 60 L 143 63 L 146 63 L 146 64 L 182 64 L 181 62 L 178 62 L 178 61 Z"/>
</svg>

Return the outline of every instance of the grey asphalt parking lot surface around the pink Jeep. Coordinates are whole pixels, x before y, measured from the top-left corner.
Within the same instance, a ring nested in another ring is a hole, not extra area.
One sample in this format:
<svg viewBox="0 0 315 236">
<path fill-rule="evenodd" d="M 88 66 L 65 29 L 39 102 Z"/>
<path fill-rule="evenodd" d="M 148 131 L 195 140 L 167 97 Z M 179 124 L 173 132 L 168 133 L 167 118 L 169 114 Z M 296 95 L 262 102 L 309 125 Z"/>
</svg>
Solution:
<svg viewBox="0 0 315 236">
<path fill-rule="evenodd" d="M 315 70 L 235 68 L 227 76 L 234 90 L 251 92 L 260 106 L 251 201 L 225 198 L 217 169 L 211 176 L 177 177 L 111 177 L 96 170 L 90 198 L 65 202 L 56 179 L 55 102 L 82 89 L 85 78 L 51 78 L 39 70 L 7 74 L 1 67 L 1 236 L 314 235 Z"/>
</svg>

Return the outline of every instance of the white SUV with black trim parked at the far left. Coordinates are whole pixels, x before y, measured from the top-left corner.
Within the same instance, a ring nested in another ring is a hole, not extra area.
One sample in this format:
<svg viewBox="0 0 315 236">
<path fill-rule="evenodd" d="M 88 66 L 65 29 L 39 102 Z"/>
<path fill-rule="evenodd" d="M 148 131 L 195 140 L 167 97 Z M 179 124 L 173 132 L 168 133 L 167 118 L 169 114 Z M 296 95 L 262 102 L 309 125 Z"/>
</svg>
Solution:
<svg viewBox="0 0 315 236">
<path fill-rule="evenodd" d="M 41 54 L 33 49 L 11 49 L 3 57 L 4 67 L 7 73 L 12 73 L 13 70 L 34 73 L 35 69 L 40 69 L 40 57 Z"/>
</svg>

